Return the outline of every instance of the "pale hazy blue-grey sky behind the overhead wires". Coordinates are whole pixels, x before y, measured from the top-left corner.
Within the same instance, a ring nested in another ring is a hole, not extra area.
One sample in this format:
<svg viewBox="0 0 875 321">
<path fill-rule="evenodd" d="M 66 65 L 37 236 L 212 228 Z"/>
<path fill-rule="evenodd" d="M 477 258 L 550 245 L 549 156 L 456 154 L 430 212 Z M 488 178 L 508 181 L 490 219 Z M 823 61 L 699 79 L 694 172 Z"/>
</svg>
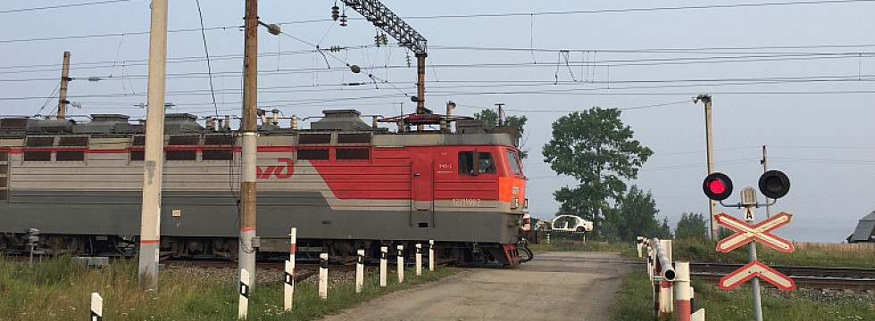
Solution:
<svg viewBox="0 0 875 321">
<path fill-rule="evenodd" d="M 756 185 L 763 145 L 769 169 L 790 178 L 771 210 L 792 222 L 775 234 L 841 243 L 875 210 L 875 1 L 382 2 L 428 39 L 428 108 L 452 101 L 454 114 L 470 116 L 504 103 L 508 115 L 529 119 L 522 148 L 535 218 L 552 218 L 552 193 L 576 185 L 543 162 L 551 124 L 593 106 L 620 109 L 654 151 L 629 185 L 653 194 L 658 218 L 674 226 L 682 213 L 708 213 L 704 104 L 691 99 L 700 94 L 712 95 L 715 168 L 736 191 Z M 259 2 L 260 20 L 283 30 L 259 31 L 259 108 L 302 118 L 325 109 L 412 111 L 413 53 L 389 36 L 374 45 L 379 31 L 352 9 L 341 27 L 334 4 Z M 168 112 L 238 116 L 244 1 L 199 7 L 169 5 Z M 0 115 L 53 115 L 70 51 L 68 100 L 81 108 L 68 114 L 145 118 L 137 105 L 146 102 L 150 16 L 146 0 L 0 3 Z M 728 202 L 738 200 L 736 192 Z"/>
</svg>

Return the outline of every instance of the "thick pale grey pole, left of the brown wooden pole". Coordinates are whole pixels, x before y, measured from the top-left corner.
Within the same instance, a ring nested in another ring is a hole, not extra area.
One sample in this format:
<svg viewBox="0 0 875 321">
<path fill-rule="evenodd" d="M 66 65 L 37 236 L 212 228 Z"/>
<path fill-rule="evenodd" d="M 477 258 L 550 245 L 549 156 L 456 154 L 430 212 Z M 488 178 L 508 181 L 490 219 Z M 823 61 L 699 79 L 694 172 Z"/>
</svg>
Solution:
<svg viewBox="0 0 875 321">
<path fill-rule="evenodd" d="M 152 0 L 149 30 L 149 84 L 146 107 L 146 152 L 143 156 L 143 209 L 137 284 L 158 289 L 161 248 L 161 188 L 164 163 L 164 87 L 167 76 L 167 0 Z M 60 113 L 58 114 L 60 118 Z"/>
</svg>

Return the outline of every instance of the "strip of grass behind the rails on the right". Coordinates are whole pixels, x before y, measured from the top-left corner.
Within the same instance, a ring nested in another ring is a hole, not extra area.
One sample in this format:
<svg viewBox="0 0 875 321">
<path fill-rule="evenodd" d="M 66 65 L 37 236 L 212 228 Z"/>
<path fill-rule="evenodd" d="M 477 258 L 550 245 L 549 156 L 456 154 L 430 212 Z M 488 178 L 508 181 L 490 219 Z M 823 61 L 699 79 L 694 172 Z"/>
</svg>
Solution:
<svg viewBox="0 0 875 321">
<path fill-rule="evenodd" d="M 747 263 L 747 246 L 728 253 L 716 250 L 710 240 L 675 240 L 671 244 L 674 260 L 712 263 Z M 807 248 L 789 253 L 758 244 L 757 259 L 766 265 L 875 268 L 873 251 L 830 251 Z"/>
</svg>

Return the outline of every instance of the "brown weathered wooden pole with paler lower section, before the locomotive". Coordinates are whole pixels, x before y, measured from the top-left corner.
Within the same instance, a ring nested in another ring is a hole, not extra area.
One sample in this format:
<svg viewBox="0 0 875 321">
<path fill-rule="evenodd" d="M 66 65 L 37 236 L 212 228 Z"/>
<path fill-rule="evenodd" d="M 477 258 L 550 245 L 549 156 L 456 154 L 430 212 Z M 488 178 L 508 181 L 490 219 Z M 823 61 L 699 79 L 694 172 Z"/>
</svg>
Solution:
<svg viewBox="0 0 875 321">
<path fill-rule="evenodd" d="M 246 0 L 246 38 L 243 61 L 243 177 L 240 180 L 240 241 L 237 244 L 240 270 L 249 272 L 248 284 L 255 285 L 255 152 L 258 134 L 258 1 Z M 241 282 L 243 280 L 240 280 Z"/>
</svg>

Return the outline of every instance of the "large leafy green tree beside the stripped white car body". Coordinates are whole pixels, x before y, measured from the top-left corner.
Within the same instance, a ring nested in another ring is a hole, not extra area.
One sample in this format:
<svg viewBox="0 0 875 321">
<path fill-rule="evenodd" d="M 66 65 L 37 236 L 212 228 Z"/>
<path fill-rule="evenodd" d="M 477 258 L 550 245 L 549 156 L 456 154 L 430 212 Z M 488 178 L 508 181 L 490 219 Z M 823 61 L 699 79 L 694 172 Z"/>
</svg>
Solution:
<svg viewBox="0 0 875 321">
<path fill-rule="evenodd" d="M 562 203 L 558 215 L 584 214 L 599 226 L 611 202 L 626 191 L 622 178 L 636 178 L 638 168 L 653 154 L 632 139 L 632 129 L 623 125 L 620 112 L 593 107 L 554 121 L 553 139 L 542 151 L 544 161 L 556 173 L 579 181 L 577 187 L 554 192 Z"/>
</svg>

